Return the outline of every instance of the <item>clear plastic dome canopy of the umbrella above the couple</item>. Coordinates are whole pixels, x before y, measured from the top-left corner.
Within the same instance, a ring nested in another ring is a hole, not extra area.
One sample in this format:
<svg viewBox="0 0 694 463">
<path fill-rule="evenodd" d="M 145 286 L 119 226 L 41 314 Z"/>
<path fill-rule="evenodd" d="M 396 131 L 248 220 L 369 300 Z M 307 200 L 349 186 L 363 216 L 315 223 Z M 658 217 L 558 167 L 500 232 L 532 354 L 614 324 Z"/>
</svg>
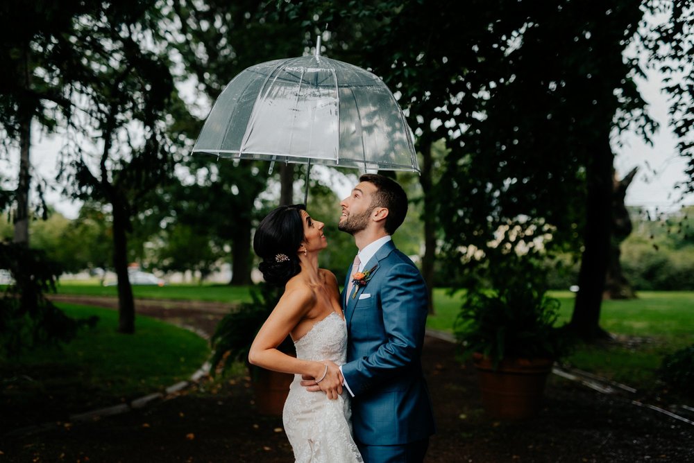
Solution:
<svg viewBox="0 0 694 463">
<path fill-rule="evenodd" d="M 412 139 L 380 78 L 316 54 L 239 73 L 214 103 L 193 152 L 419 172 Z"/>
</svg>

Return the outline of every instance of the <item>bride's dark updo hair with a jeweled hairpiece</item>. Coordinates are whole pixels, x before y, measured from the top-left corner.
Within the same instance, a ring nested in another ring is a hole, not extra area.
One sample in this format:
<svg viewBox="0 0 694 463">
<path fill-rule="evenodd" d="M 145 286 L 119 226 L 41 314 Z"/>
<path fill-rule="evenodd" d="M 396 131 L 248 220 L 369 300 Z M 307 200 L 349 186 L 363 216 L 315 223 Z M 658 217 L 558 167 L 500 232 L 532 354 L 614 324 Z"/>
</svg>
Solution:
<svg viewBox="0 0 694 463">
<path fill-rule="evenodd" d="M 280 206 L 260 221 L 253 236 L 253 250 L 262 257 L 258 269 L 270 284 L 284 286 L 301 271 L 297 250 L 304 239 L 301 211 L 304 204 Z"/>
</svg>

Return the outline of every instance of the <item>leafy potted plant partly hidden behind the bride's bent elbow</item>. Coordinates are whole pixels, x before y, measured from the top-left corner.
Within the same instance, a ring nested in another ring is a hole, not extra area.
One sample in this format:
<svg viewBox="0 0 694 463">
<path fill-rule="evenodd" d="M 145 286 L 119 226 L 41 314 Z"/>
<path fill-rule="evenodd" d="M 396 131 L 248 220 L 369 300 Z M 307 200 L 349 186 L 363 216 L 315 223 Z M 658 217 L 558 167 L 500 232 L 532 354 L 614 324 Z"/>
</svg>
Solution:
<svg viewBox="0 0 694 463">
<path fill-rule="evenodd" d="M 294 375 L 251 365 L 248 362 L 248 351 L 260 326 L 276 306 L 281 291 L 278 288 L 262 283 L 260 290 L 252 290 L 253 302 L 245 302 L 232 309 L 217 325 L 210 340 L 212 344 L 211 371 L 226 372 L 235 362 L 242 362 L 251 376 L 251 386 L 255 395 L 255 404 L 261 414 L 282 416 L 282 408 L 289 394 L 289 383 Z M 296 355 L 294 343 L 287 336 L 278 347 L 289 355 Z"/>
</svg>

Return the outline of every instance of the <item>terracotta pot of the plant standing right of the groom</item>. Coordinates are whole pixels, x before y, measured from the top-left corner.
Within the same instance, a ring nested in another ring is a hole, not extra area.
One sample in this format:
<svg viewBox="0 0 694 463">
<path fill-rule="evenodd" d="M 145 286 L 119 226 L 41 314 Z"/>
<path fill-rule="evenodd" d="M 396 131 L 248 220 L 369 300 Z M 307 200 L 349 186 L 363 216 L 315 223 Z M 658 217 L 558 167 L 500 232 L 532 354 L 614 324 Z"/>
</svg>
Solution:
<svg viewBox="0 0 694 463">
<path fill-rule="evenodd" d="M 539 412 L 552 360 L 505 359 L 497 369 L 479 353 L 475 353 L 473 361 L 480 379 L 482 406 L 489 417 L 517 420 Z"/>
</svg>

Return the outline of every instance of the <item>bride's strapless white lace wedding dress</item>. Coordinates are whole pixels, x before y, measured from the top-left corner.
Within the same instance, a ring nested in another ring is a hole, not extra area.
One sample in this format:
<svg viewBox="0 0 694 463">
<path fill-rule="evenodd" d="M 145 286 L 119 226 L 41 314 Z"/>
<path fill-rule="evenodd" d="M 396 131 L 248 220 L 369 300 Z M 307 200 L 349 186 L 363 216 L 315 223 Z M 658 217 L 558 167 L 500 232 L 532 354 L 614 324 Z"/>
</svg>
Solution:
<svg viewBox="0 0 694 463">
<path fill-rule="evenodd" d="M 298 358 L 332 360 L 343 365 L 347 356 L 346 324 L 332 313 L 314 324 L 294 346 Z M 282 412 L 296 462 L 363 462 L 352 438 L 349 392 L 344 389 L 337 400 L 330 400 L 323 392 L 308 392 L 300 382 L 301 375 L 294 376 Z"/>
</svg>

